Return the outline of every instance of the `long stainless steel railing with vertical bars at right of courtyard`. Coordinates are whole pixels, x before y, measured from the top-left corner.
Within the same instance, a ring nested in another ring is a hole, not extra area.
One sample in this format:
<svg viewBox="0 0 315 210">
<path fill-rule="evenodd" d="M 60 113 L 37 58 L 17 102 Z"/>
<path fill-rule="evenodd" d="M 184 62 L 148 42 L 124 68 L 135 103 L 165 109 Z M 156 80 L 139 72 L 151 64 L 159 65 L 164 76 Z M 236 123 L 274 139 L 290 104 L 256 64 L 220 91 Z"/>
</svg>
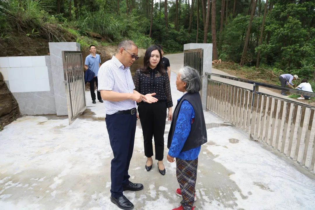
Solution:
<svg viewBox="0 0 315 210">
<path fill-rule="evenodd" d="M 284 90 L 315 97 L 314 93 L 282 88 L 261 82 L 219 74 L 208 76 L 206 109 L 249 133 L 288 158 L 314 172 L 315 163 L 315 107 L 297 101 L 259 92 L 259 87 Z M 213 77 L 252 84 L 242 88 Z"/>
</svg>

